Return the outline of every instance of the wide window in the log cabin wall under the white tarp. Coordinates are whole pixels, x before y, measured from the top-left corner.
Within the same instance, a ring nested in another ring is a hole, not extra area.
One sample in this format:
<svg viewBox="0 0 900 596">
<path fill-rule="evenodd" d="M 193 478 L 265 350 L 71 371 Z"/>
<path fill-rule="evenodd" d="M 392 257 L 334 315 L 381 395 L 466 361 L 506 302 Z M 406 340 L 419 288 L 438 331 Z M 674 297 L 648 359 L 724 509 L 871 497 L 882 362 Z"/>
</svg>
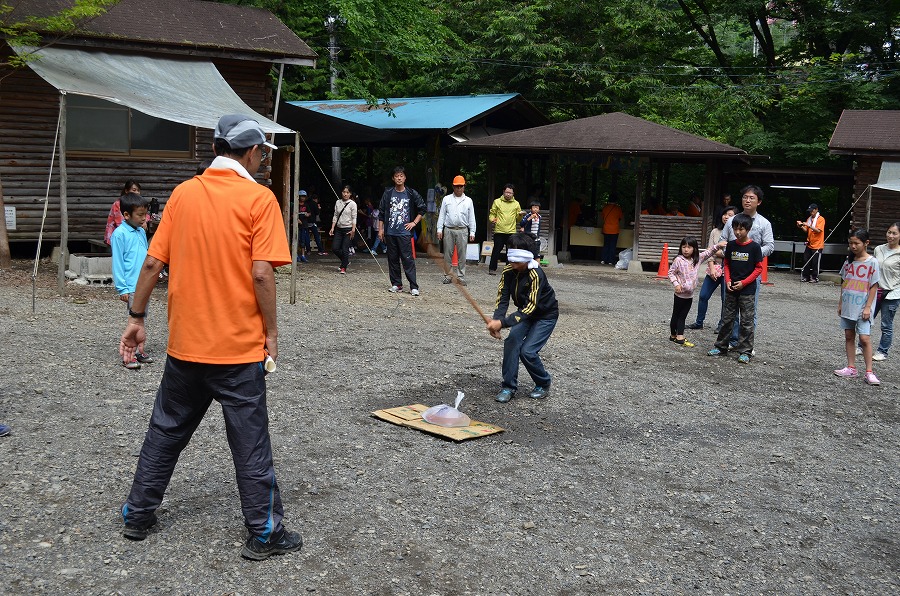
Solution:
<svg viewBox="0 0 900 596">
<path fill-rule="evenodd" d="M 66 149 L 133 157 L 193 157 L 193 127 L 111 101 L 68 95 Z"/>
</svg>

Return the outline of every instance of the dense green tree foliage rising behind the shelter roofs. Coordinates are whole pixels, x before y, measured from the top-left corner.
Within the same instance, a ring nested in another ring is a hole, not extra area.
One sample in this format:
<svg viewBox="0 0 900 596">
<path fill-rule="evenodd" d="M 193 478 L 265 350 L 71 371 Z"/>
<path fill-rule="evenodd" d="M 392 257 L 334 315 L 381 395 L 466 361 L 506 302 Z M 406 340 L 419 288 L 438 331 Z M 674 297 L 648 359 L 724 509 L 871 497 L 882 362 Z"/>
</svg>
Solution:
<svg viewBox="0 0 900 596">
<path fill-rule="evenodd" d="M 900 0 L 256 0 L 319 55 L 289 96 L 521 93 L 554 120 L 623 111 L 825 163 L 843 109 L 900 108 Z"/>
</svg>

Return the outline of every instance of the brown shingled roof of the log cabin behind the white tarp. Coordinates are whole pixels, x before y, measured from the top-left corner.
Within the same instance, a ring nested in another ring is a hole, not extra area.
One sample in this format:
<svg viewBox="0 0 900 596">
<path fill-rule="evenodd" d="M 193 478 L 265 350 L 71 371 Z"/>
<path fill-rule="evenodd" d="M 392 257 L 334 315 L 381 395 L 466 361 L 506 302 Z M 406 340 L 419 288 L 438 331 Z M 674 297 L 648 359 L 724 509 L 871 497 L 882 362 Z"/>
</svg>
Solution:
<svg viewBox="0 0 900 596">
<path fill-rule="evenodd" d="M 6 22 L 28 15 L 47 16 L 72 0 L 21 0 Z M 203 0 L 121 0 L 99 17 L 82 23 L 60 43 L 100 42 L 105 48 L 135 42 L 183 50 L 247 53 L 274 62 L 314 62 L 317 55 L 271 12 Z"/>
</svg>

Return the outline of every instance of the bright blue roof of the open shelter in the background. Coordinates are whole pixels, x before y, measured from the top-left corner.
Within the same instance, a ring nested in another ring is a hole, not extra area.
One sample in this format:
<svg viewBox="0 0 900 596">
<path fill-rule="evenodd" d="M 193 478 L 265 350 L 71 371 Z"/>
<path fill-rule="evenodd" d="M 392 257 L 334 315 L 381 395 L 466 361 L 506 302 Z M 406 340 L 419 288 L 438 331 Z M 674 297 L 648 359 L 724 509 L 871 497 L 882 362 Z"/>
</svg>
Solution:
<svg viewBox="0 0 900 596">
<path fill-rule="evenodd" d="M 520 97 L 518 93 L 398 97 L 378 107 L 362 99 L 289 101 L 288 104 L 381 130 L 452 131 Z"/>
</svg>

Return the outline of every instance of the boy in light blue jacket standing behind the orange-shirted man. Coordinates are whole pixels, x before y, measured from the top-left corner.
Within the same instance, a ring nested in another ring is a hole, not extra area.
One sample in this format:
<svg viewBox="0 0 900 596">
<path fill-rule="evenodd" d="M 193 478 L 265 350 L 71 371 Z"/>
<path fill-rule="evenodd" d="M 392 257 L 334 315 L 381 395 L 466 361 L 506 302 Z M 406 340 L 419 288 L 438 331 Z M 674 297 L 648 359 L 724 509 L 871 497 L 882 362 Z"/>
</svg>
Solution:
<svg viewBox="0 0 900 596">
<path fill-rule="evenodd" d="M 113 282 L 119 299 L 131 308 L 134 288 L 137 285 L 141 266 L 147 257 L 147 200 L 137 193 L 127 193 L 119 199 L 122 209 L 122 224 L 113 231 L 109 245 L 113 255 Z M 125 368 L 136 370 L 141 363 L 153 362 L 148 354 L 137 352 L 131 362 L 122 362 Z"/>
</svg>

